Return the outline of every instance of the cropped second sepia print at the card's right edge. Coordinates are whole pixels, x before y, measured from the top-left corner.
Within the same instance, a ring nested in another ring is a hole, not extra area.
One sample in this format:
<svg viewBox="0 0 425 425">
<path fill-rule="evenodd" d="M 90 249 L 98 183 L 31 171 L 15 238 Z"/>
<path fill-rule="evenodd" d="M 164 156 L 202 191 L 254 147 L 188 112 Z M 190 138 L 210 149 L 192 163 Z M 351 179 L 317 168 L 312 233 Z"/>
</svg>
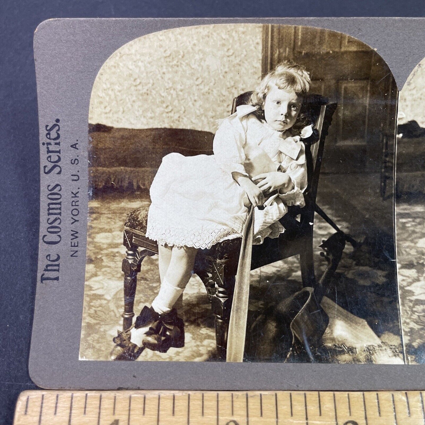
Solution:
<svg viewBox="0 0 425 425">
<path fill-rule="evenodd" d="M 421 364 L 425 363 L 425 59 L 400 91 L 397 121 L 395 209 L 402 329 L 406 363 Z"/>
</svg>

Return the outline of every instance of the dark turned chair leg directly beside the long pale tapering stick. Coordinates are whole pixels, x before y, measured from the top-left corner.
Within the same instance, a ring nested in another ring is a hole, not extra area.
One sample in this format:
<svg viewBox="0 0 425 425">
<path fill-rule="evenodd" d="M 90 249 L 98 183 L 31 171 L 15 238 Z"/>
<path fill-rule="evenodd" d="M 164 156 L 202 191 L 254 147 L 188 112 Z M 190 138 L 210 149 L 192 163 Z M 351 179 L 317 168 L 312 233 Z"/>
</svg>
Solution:
<svg viewBox="0 0 425 425">
<path fill-rule="evenodd" d="M 213 263 L 212 279 L 215 282 L 215 294 L 212 295 L 211 300 L 211 309 L 215 315 L 217 355 L 222 360 L 226 360 L 227 331 L 229 330 L 229 318 L 235 287 L 235 276 L 226 276 L 224 267 L 224 264 Z"/>
</svg>

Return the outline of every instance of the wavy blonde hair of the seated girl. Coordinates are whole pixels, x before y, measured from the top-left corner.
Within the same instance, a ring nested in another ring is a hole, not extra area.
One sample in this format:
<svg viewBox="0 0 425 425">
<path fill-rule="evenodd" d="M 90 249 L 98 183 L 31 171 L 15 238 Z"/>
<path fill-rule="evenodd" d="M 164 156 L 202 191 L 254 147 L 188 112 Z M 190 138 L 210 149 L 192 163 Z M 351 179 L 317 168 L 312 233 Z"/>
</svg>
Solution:
<svg viewBox="0 0 425 425">
<path fill-rule="evenodd" d="M 294 91 L 298 96 L 305 98 L 310 91 L 311 79 L 305 68 L 292 60 L 286 60 L 277 65 L 266 74 L 249 98 L 249 105 L 257 108 L 256 115 L 259 119 L 264 119 L 263 106 L 272 85 L 281 90 Z M 298 130 L 311 124 L 310 121 L 309 116 L 301 110 L 293 128 Z"/>
</svg>

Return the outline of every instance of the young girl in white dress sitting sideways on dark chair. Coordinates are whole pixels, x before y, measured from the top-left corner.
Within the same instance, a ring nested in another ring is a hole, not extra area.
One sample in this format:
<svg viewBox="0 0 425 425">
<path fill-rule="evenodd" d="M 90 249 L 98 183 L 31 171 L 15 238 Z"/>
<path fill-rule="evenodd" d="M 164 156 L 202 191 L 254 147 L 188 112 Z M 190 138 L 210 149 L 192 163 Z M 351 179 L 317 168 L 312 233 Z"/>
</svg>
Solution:
<svg viewBox="0 0 425 425">
<path fill-rule="evenodd" d="M 263 78 L 249 105 L 220 120 L 214 155 L 163 158 L 150 188 L 146 232 L 159 245 L 161 287 L 136 319 L 133 353 L 141 352 L 139 346 L 165 352 L 184 345 L 183 321 L 173 307 L 196 253 L 240 238 L 249 205 L 255 208 L 255 244 L 284 231 L 279 219 L 287 206 L 304 206 L 307 171 L 300 139 L 312 134 L 312 125 L 300 108 L 309 88 L 309 74 L 283 62 Z M 149 331 L 138 334 L 147 324 Z"/>
</svg>

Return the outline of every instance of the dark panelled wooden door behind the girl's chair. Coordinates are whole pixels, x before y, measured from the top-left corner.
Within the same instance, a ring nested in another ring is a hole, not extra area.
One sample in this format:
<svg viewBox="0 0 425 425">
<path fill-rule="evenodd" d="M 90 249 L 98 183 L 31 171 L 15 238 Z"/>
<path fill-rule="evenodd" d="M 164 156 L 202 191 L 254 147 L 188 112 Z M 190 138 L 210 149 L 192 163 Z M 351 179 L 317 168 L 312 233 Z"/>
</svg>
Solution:
<svg viewBox="0 0 425 425">
<path fill-rule="evenodd" d="M 338 102 L 326 139 L 323 171 L 380 169 L 383 134 L 394 131 L 397 86 L 368 45 L 323 28 L 265 25 L 263 75 L 293 59 L 312 79 L 311 92 Z"/>
</svg>

